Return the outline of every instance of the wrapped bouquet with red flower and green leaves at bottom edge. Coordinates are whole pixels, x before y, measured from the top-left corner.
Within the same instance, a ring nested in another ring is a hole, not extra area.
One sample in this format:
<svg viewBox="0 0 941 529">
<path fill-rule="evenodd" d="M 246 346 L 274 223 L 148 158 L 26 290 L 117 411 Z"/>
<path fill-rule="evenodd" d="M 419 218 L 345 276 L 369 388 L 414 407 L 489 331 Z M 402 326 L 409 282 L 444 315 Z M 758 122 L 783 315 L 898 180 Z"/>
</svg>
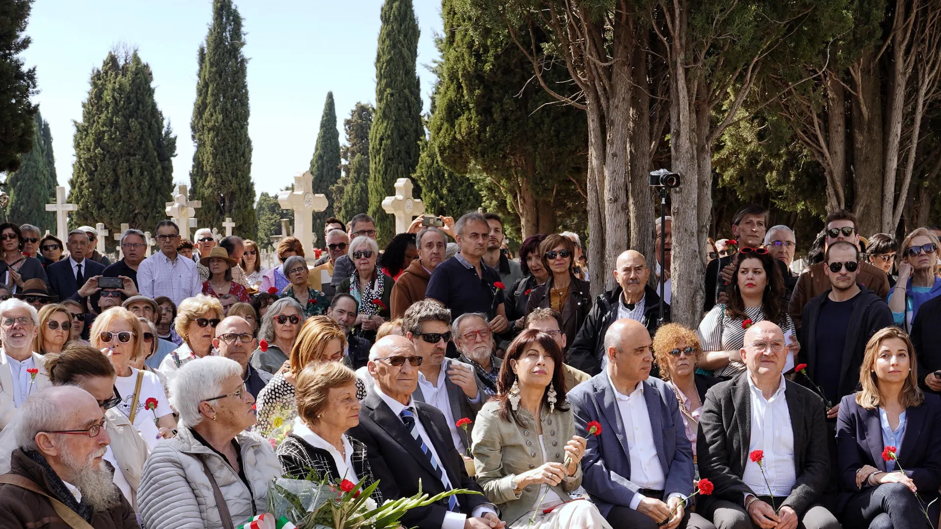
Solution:
<svg viewBox="0 0 941 529">
<path fill-rule="evenodd" d="M 438 502 L 452 494 L 479 494 L 467 489 L 453 489 L 428 497 L 419 491 L 414 496 L 387 500 L 375 505 L 370 497 L 378 482 L 361 489 L 363 482 L 343 480 L 339 484 L 328 479 L 276 478 L 268 489 L 268 510 L 278 520 L 293 523 L 297 529 L 397 529 L 409 509 Z"/>
</svg>

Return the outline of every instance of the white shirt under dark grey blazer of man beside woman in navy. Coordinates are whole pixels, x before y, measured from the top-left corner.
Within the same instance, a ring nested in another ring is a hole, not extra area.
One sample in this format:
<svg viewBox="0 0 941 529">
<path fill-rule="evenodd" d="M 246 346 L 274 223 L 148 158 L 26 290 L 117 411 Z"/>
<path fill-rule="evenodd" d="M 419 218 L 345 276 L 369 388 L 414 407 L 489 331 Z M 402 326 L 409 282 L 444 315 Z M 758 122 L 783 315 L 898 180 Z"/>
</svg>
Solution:
<svg viewBox="0 0 941 529">
<path fill-rule="evenodd" d="M 758 463 L 749 457 L 745 462 L 742 481 L 758 496 L 769 496 L 773 492 L 775 498 L 786 498 L 797 482 L 797 471 L 794 469 L 794 430 L 790 426 L 788 400 L 784 395 L 784 376 L 781 376 L 777 391 L 768 399 L 752 381 L 751 374 L 746 378 L 752 406 L 752 435 L 748 453 L 755 450 L 764 452 L 761 459 L 764 476 Z M 765 476 L 768 478 L 767 485 Z M 768 485 L 771 485 L 770 491 Z"/>
</svg>

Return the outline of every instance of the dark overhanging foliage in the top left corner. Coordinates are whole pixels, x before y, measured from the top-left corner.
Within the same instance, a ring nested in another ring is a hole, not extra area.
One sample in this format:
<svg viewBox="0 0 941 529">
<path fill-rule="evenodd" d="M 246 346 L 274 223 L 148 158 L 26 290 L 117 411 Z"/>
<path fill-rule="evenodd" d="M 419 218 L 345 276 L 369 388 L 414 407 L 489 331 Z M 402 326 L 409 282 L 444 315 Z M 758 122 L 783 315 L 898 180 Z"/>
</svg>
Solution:
<svg viewBox="0 0 941 529">
<path fill-rule="evenodd" d="M 0 1 L 0 171 L 20 167 L 20 154 L 33 149 L 37 105 L 36 67 L 24 70 L 20 54 L 29 47 L 24 35 L 32 0 Z"/>
</svg>

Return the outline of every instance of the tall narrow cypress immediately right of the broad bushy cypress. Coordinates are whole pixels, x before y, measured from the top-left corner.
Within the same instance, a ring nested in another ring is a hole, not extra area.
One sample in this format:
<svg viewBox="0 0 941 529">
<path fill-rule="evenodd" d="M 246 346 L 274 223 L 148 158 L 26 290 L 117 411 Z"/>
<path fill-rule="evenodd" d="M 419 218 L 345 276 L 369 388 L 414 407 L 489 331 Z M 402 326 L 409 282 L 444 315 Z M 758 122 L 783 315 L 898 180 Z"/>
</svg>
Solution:
<svg viewBox="0 0 941 529">
<path fill-rule="evenodd" d="M 226 216 L 235 232 L 255 236 L 255 185 L 248 137 L 247 58 L 242 17 L 231 0 L 213 2 L 213 24 L 199 47 L 199 81 L 190 121 L 196 152 L 190 198 L 202 200 L 199 226 L 221 231 Z"/>
</svg>

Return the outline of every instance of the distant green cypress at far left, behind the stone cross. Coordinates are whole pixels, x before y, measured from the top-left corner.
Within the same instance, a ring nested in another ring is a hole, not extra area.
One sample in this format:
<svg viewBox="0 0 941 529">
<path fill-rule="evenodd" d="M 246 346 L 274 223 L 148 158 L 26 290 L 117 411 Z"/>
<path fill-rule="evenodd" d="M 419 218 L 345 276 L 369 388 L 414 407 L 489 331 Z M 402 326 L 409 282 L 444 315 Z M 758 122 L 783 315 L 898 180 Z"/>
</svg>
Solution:
<svg viewBox="0 0 941 529">
<path fill-rule="evenodd" d="M 32 224 L 40 230 L 54 230 L 56 216 L 46 211 L 46 204 L 56 199 L 56 168 L 53 162 L 49 123 L 39 112 L 34 117 L 33 148 L 24 153 L 20 168 L 7 176 L 10 222 Z"/>
</svg>

